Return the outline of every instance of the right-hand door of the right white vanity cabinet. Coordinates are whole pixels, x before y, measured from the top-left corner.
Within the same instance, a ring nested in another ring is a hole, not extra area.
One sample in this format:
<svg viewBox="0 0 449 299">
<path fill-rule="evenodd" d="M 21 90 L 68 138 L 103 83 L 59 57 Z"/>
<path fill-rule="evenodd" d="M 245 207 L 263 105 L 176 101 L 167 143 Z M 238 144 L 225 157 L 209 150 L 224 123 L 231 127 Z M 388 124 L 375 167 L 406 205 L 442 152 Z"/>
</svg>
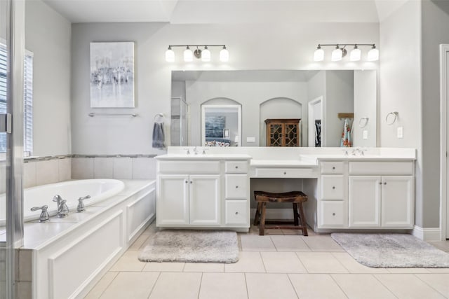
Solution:
<svg viewBox="0 0 449 299">
<path fill-rule="evenodd" d="M 413 176 L 382 176 L 382 226 L 413 228 Z"/>
</svg>

